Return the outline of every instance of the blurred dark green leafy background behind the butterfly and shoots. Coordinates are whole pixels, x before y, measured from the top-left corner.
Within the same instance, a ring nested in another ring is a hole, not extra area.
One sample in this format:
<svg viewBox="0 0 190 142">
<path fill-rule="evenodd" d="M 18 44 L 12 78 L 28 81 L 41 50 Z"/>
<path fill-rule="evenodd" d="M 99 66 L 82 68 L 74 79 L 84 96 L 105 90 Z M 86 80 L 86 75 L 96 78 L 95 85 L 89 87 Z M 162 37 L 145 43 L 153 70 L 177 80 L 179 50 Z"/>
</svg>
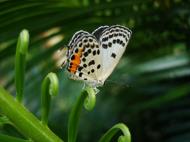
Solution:
<svg viewBox="0 0 190 142">
<path fill-rule="evenodd" d="M 56 51 L 78 30 L 120 24 L 133 31 L 115 71 L 81 116 L 78 141 L 96 142 L 124 122 L 133 142 L 190 141 L 190 2 L 188 0 L 0 0 L 0 84 L 15 95 L 17 37 L 30 32 L 24 104 L 40 116 L 40 86 L 59 77 L 50 128 L 66 140 L 68 114 L 83 84 L 56 66 Z M 19 135 L 11 126 L 0 132 Z"/>
</svg>

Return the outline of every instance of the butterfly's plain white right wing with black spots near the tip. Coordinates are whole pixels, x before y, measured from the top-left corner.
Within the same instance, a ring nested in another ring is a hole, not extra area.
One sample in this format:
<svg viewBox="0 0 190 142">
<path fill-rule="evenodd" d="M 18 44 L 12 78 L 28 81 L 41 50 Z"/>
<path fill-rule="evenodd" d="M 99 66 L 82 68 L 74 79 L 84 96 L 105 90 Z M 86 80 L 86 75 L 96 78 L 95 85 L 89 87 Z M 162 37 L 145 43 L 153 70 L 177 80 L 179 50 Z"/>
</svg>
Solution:
<svg viewBox="0 0 190 142">
<path fill-rule="evenodd" d="M 119 25 L 111 26 L 102 32 L 100 36 L 102 70 L 98 76 L 98 79 L 102 80 L 102 82 L 109 77 L 118 64 L 127 47 L 131 34 L 131 30 Z"/>
</svg>

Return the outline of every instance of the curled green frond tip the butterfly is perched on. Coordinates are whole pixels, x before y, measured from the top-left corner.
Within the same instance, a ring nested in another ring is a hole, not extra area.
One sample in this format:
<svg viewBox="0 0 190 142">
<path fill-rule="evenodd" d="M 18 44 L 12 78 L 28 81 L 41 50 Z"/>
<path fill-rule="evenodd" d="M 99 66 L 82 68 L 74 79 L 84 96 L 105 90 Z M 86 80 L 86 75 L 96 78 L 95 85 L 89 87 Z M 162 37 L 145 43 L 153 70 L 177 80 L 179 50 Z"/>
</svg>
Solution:
<svg viewBox="0 0 190 142">
<path fill-rule="evenodd" d="M 71 110 L 68 124 L 68 142 L 76 142 L 79 117 L 84 105 L 87 110 L 92 110 L 96 102 L 96 93 L 93 88 L 86 87 L 77 99 Z"/>
</svg>

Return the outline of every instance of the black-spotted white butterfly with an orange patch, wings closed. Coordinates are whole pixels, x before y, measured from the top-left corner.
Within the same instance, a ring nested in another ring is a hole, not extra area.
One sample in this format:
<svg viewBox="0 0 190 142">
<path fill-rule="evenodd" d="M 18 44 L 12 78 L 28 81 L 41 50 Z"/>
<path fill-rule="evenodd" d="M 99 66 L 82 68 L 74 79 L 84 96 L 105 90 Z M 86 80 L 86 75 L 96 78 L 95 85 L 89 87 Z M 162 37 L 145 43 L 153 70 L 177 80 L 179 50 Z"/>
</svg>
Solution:
<svg viewBox="0 0 190 142">
<path fill-rule="evenodd" d="M 122 57 L 131 34 L 130 29 L 121 25 L 101 26 L 92 33 L 76 32 L 67 51 L 70 78 L 94 88 L 103 86 Z"/>
</svg>

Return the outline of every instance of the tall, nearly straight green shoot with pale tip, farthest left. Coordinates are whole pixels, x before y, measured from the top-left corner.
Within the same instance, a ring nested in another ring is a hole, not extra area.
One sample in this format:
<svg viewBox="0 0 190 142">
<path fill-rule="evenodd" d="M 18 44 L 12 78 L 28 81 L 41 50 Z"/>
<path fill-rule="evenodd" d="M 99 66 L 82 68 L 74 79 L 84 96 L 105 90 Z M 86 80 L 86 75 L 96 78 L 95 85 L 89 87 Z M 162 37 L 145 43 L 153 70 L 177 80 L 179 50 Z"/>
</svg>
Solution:
<svg viewBox="0 0 190 142">
<path fill-rule="evenodd" d="M 28 50 L 29 34 L 27 30 L 23 30 L 18 38 L 16 57 L 15 57 L 15 84 L 16 98 L 19 102 L 23 98 L 24 90 L 24 74 L 26 66 L 26 54 Z"/>
</svg>

